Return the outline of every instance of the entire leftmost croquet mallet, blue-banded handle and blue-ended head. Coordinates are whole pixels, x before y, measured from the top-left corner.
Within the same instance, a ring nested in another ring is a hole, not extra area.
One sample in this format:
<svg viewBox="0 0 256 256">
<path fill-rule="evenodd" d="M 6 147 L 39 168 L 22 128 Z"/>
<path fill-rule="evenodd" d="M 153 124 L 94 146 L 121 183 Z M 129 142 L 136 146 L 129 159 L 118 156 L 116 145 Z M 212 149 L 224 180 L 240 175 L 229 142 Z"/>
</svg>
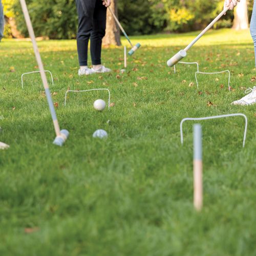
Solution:
<svg viewBox="0 0 256 256">
<path fill-rule="evenodd" d="M 55 109 L 54 109 L 54 105 L 53 105 L 51 93 L 50 93 L 50 90 L 49 90 L 49 85 L 48 85 L 48 82 L 47 82 L 46 74 L 44 72 L 44 66 L 42 65 L 41 56 L 40 56 L 40 53 L 38 51 L 38 47 L 37 47 L 37 44 L 36 44 L 35 33 L 34 33 L 34 30 L 33 30 L 33 27 L 32 27 L 32 23 L 31 23 L 31 19 L 30 19 L 30 16 L 29 16 L 28 8 L 27 8 L 25 0 L 20 0 L 20 4 L 22 5 L 22 10 L 23 10 L 23 13 L 24 13 L 24 17 L 25 17 L 25 20 L 26 20 L 26 24 L 27 24 L 27 28 L 28 28 L 28 31 L 29 31 L 30 38 L 32 40 L 37 65 L 39 67 L 42 83 L 44 84 L 46 97 L 47 97 L 50 112 L 51 112 L 51 115 L 52 115 L 53 125 L 54 125 L 54 129 L 55 129 L 55 133 L 56 133 L 56 138 L 53 141 L 53 143 L 55 145 L 62 146 L 62 144 L 67 140 L 67 138 L 69 136 L 69 132 L 67 130 L 61 130 L 60 131 L 60 129 L 59 129 L 59 124 L 58 124 L 56 112 L 55 112 Z"/>
</svg>

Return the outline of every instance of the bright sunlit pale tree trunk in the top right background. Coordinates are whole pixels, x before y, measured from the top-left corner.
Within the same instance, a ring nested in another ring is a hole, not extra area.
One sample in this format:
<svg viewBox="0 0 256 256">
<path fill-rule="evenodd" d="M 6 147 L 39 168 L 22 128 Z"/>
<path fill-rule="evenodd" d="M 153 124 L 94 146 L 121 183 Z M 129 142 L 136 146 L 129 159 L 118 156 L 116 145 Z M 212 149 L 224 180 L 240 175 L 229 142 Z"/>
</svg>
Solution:
<svg viewBox="0 0 256 256">
<path fill-rule="evenodd" d="M 246 0 L 241 0 L 234 10 L 234 23 L 233 29 L 248 29 L 248 13 Z"/>
</svg>

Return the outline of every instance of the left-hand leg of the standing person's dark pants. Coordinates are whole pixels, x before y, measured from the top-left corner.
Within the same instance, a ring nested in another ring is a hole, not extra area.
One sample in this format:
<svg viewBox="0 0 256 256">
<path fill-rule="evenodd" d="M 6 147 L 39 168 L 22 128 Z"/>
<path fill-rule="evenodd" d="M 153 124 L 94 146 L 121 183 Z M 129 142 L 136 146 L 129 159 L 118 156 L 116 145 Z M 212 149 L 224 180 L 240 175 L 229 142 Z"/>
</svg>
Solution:
<svg viewBox="0 0 256 256">
<path fill-rule="evenodd" d="M 95 1 L 76 0 L 78 13 L 77 52 L 80 67 L 87 66 L 88 41 L 93 28 Z"/>
</svg>

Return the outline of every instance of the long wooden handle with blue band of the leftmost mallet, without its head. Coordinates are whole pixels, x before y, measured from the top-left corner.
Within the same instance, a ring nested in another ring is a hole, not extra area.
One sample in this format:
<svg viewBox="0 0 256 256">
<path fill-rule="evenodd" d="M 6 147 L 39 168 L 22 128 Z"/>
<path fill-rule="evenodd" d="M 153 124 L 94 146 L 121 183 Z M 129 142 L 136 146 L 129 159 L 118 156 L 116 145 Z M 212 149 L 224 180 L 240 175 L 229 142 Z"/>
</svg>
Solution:
<svg viewBox="0 0 256 256">
<path fill-rule="evenodd" d="M 38 50 L 38 47 L 37 47 L 37 44 L 36 44 L 35 33 L 34 33 L 34 30 L 33 30 L 33 27 L 32 27 L 32 23 L 31 23 L 28 8 L 27 8 L 27 5 L 26 5 L 26 1 L 25 0 L 20 0 L 20 5 L 22 5 L 22 10 L 23 10 L 24 17 L 25 17 L 25 20 L 26 20 L 29 35 L 30 35 L 30 38 L 31 38 L 31 41 L 32 41 L 32 44 L 33 44 L 34 53 L 35 53 L 37 65 L 39 67 L 42 83 L 44 84 L 44 88 L 45 88 L 49 108 L 50 108 L 52 119 L 53 119 L 54 130 L 55 130 L 56 136 L 60 136 L 60 129 L 59 129 L 58 120 L 57 120 L 57 117 L 56 117 L 56 113 L 55 113 L 55 110 L 54 110 L 54 105 L 53 105 L 51 94 L 50 94 L 50 91 L 49 91 L 49 85 L 48 85 L 48 82 L 47 82 L 46 74 L 44 72 L 44 65 L 42 64 L 41 56 L 40 56 L 40 53 L 39 53 L 39 50 Z"/>
</svg>

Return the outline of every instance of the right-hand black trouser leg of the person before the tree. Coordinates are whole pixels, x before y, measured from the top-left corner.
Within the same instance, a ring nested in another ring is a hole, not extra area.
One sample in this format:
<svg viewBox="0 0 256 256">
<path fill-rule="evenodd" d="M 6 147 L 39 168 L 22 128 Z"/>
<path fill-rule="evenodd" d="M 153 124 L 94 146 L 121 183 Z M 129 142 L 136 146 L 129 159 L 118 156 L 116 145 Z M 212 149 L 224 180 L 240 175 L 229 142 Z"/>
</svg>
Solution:
<svg viewBox="0 0 256 256">
<path fill-rule="evenodd" d="M 102 5 L 102 0 L 96 0 L 93 14 L 93 30 L 91 33 L 91 57 L 93 65 L 101 64 L 102 38 L 106 29 L 106 7 Z"/>
</svg>

